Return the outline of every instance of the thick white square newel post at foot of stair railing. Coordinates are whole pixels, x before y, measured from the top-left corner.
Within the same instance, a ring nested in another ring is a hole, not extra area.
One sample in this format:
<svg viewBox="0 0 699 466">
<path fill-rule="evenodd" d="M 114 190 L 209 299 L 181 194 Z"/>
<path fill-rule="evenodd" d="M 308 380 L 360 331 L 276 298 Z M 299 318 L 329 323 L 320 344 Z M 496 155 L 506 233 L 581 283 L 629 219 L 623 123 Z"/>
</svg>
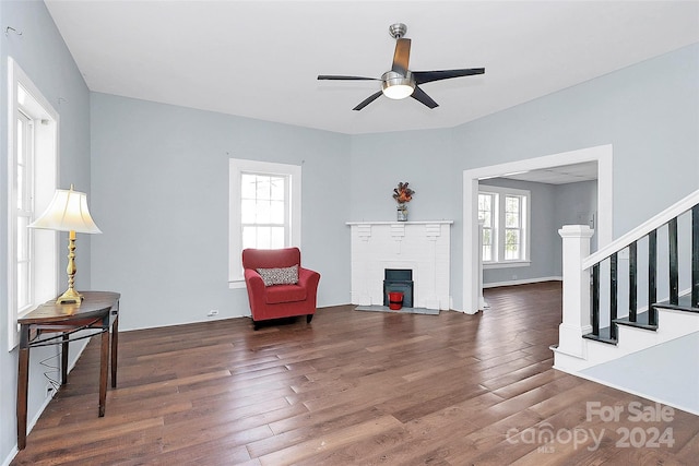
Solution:
<svg viewBox="0 0 699 466">
<path fill-rule="evenodd" d="M 584 358 L 582 335 L 590 333 L 590 271 L 582 261 L 590 255 L 594 230 L 587 225 L 564 225 L 564 318 L 558 327 L 558 351 Z"/>
</svg>

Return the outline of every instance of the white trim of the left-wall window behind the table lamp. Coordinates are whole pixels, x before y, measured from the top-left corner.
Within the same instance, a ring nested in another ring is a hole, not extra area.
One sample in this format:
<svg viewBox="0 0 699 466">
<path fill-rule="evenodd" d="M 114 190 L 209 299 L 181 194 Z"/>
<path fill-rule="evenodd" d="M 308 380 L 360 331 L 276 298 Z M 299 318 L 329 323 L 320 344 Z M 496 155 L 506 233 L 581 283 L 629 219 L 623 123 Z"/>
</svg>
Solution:
<svg viewBox="0 0 699 466">
<path fill-rule="evenodd" d="M 17 86 L 22 86 L 31 99 L 21 104 L 19 101 Z M 8 350 L 14 349 L 20 340 L 17 330 L 17 319 L 22 315 L 17 313 L 15 296 L 16 263 L 14 244 L 16 239 L 16 222 L 14 212 L 16 210 L 16 192 L 14 191 L 15 176 L 15 135 L 16 120 L 20 108 L 24 108 L 35 121 L 35 143 L 36 151 L 46 151 L 50 157 L 43 155 L 40 158 L 42 169 L 34 172 L 34 212 L 43 212 L 51 201 L 58 183 L 58 147 L 59 147 L 59 113 L 42 95 L 32 80 L 20 68 L 20 65 L 8 57 Z M 49 162 L 50 160 L 50 162 Z M 51 166 L 52 164 L 52 166 Z M 35 164 L 38 165 L 38 164 Z M 33 309 L 38 303 L 55 298 L 58 294 L 58 235 L 52 231 L 45 231 L 40 235 L 34 234 L 34 306 L 25 310 Z"/>
</svg>

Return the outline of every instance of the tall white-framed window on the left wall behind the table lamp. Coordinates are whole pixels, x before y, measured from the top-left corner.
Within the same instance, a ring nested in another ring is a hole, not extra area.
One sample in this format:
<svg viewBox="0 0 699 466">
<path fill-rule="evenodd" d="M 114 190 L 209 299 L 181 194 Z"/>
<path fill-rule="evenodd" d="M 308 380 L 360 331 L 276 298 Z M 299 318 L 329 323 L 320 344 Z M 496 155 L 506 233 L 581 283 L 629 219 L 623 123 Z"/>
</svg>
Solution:
<svg viewBox="0 0 699 466">
<path fill-rule="evenodd" d="M 52 231 L 27 228 L 54 196 L 58 113 L 8 58 L 8 342 L 19 342 L 17 318 L 56 297 L 58 246 Z"/>
</svg>

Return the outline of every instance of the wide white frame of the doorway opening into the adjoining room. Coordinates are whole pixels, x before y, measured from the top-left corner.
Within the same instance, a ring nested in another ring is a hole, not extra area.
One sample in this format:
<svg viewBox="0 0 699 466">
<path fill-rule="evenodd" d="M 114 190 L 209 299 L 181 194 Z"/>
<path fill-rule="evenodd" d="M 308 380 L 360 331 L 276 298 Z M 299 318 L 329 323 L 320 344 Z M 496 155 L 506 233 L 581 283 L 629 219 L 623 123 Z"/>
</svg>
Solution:
<svg viewBox="0 0 699 466">
<path fill-rule="evenodd" d="M 612 144 L 463 171 L 463 312 L 474 314 L 479 309 L 478 180 L 518 171 L 541 170 L 585 162 L 597 163 L 597 222 L 595 227 L 597 248 L 602 248 L 612 242 L 613 234 Z"/>
</svg>

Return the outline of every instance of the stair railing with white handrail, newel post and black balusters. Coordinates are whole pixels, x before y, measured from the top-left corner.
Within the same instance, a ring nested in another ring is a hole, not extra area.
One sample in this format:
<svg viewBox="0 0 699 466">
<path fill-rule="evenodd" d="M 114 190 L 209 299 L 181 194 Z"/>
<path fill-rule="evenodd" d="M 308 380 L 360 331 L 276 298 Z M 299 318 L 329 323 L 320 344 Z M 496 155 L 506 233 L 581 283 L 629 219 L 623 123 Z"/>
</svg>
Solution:
<svg viewBox="0 0 699 466">
<path fill-rule="evenodd" d="M 581 343 L 573 340 L 579 340 L 581 336 L 616 343 L 617 323 L 628 322 L 637 326 L 656 327 L 657 311 L 653 304 L 657 303 L 659 287 L 663 294 L 666 290 L 670 307 L 680 304 L 680 272 L 687 267 L 680 268 L 678 219 L 685 225 L 685 216 L 690 216 L 689 226 L 686 228 L 689 229 L 688 242 L 691 243 L 690 291 L 685 297 L 686 300 L 683 298 L 682 304 L 699 308 L 699 190 L 590 255 L 588 253 L 592 230 L 589 227 L 568 225 L 559 230 L 564 238 L 564 322 L 559 331 L 559 350 L 583 357 Z M 667 244 L 662 244 L 663 248 L 666 246 L 667 262 L 661 258 L 662 265 L 667 266 L 666 279 L 665 276 L 657 275 L 659 250 L 665 252 L 660 248 L 659 232 L 661 237 L 667 237 Z M 644 248 L 639 248 L 640 243 Z M 648 264 L 648 315 L 643 315 L 645 322 L 639 322 L 638 294 L 639 289 L 644 288 L 639 283 L 639 262 L 642 262 L 639 261 L 639 250 L 642 254 L 645 252 L 643 249 L 647 250 L 647 254 L 642 258 Z M 628 256 L 626 277 L 619 273 L 623 268 L 619 266 L 620 256 L 624 260 Z M 683 264 L 686 265 L 684 259 L 683 255 Z M 628 291 L 624 297 L 619 294 L 621 288 L 627 288 Z M 604 303 L 602 295 L 605 295 Z M 624 309 L 627 306 L 628 316 Z M 621 319 L 619 314 L 623 315 Z M 603 328 L 606 323 L 608 326 Z"/>
</svg>

